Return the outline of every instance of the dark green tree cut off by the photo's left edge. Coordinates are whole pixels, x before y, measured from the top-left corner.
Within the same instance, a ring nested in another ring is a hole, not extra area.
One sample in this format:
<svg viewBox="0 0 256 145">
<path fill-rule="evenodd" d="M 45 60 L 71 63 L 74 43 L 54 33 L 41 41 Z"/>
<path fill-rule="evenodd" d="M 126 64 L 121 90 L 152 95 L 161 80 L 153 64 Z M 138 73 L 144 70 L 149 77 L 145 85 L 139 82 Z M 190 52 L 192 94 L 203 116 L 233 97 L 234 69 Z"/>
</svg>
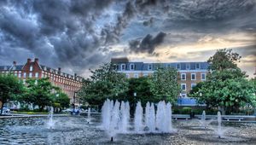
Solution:
<svg viewBox="0 0 256 145">
<path fill-rule="evenodd" d="M 22 96 L 24 86 L 19 79 L 11 74 L 0 75 L 0 100 L 2 101 L 1 113 L 3 113 L 3 105 L 9 101 L 15 101 Z"/>
</svg>

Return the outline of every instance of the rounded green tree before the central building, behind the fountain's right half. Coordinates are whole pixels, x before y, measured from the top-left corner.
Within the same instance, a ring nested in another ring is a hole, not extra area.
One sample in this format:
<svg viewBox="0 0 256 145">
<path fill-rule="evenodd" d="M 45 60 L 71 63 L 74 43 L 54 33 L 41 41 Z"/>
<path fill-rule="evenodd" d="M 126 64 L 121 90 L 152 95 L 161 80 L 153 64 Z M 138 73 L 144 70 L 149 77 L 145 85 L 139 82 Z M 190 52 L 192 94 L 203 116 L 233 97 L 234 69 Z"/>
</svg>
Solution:
<svg viewBox="0 0 256 145">
<path fill-rule="evenodd" d="M 177 70 L 174 68 L 159 68 L 151 78 L 151 88 L 156 101 L 164 100 L 174 103 L 180 93 L 177 84 Z"/>
</svg>

